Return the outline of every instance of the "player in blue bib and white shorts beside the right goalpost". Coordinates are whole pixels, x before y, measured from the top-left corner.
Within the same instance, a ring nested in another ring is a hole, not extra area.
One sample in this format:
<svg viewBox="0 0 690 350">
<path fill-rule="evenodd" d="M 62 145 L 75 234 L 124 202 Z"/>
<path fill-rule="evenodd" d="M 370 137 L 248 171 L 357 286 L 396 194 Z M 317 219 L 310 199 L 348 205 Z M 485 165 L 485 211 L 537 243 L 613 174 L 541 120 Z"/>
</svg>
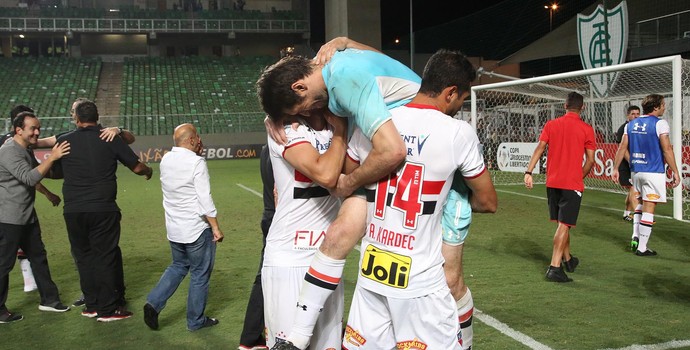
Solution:
<svg viewBox="0 0 690 350">
<path fill-rule="evenodd" d="M 620 179 L 618 166 L 622 163 L 626 150 L 629 151 L 633 186 L 638 191 L 631 243 L 631 248 L 637 256 L 657 254 L 647 247 L 647 243 L 652 235 L 656 205 L 666 203 L 664 163 L 671 168 L 671 186 L 676 187 L 680 184 L 673 146 L 668 136 L 670 127 L 667 121 L 661 119 L 665 111 L 666 103 L 661 95 L 648 95 L 642 100 L 644 115 L 628 123 L 625 128 L 611 174 L 614 181 Z"/>
</svg>

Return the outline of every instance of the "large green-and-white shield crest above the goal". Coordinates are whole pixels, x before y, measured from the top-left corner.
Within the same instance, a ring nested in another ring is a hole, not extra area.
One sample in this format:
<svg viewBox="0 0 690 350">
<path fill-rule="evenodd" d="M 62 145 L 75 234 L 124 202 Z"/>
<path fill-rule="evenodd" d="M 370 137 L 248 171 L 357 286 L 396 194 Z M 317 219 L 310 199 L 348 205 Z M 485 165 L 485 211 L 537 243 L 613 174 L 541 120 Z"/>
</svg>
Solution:
<svg viewBox="0 0 690 350">
<path fill-rule="evenodd" d="M 608 21 L 605 21 L 605 17 Z M 608 23 L 606 23 L 608 22 Z M 577 15 L 577 42 L 580 61 L 584 69 L 620 64 L 628 49 L 628 6 L 625 1 L 606 11 L 597 6 L 591 15 Z M 599 97 L 607 96 L 618 78 L 618 73 L 589 76 L 592 90 Z"/>
</svg>

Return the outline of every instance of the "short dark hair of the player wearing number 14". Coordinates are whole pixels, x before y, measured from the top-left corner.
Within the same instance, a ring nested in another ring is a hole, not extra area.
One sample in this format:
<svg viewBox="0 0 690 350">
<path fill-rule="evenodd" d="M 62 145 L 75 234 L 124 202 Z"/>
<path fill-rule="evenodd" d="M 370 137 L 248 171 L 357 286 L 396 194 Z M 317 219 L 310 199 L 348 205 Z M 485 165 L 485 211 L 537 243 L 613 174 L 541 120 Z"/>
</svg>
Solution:
<svg viewBox="0 0 690 350">
<path fill-rule="evenodd" d="M 470 91 L 476 78 L 477 71 L 462 52 L 441 49 L 427 61 L 419 92 L 436 97 L 443 89 L 457 86 L 462 94 Z"/>
</svg>

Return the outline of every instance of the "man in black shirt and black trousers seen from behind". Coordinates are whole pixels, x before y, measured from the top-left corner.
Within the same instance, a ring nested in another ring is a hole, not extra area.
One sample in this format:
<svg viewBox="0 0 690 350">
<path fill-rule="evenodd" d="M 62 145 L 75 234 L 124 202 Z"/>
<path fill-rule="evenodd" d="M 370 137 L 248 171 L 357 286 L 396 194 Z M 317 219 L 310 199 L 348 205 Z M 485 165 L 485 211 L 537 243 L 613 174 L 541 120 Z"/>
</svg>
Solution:
<svg viewBox="0 0 690 350">
<path fill-rule="evenodd" d="M 152 169 L 120 138 L 99 136 L 98 109 L 91 101 L 75 108 L 77 130 L 61 135 L 72 151 L 60 160 L 64 183 L 64 217 L 72 254 L 77 261 L 86 307 L 82 315 L 99 322 L 132 316 L 122 305 L 124 277 L 120 241 L 120 208 L 115 202 L 119 161 L 137 175 L 150 179 Z"/>
</svg>

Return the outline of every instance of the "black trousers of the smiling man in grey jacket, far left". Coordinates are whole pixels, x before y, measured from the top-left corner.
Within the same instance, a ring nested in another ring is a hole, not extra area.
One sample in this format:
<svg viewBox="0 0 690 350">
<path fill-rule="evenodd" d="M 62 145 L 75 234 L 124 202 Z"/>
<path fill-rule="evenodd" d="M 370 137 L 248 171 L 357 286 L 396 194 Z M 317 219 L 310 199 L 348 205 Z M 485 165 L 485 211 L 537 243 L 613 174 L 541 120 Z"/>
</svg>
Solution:
<svg viewBox="0 0 690 350">
<path fill-rule="evenodd" d="M 41 295 L 41 304 L 50 305 L 60 301 L 57 286 L 50 276 L 48 256 L 41 239 L 38 220 L 27 225 L 0 223 L 0 312 L 7 311 L 5 302 L 9 290 L 9 275 L 17 260 L 17 248 L 22 248 L 29 258 L 38 293 Z"/>
</svg>

